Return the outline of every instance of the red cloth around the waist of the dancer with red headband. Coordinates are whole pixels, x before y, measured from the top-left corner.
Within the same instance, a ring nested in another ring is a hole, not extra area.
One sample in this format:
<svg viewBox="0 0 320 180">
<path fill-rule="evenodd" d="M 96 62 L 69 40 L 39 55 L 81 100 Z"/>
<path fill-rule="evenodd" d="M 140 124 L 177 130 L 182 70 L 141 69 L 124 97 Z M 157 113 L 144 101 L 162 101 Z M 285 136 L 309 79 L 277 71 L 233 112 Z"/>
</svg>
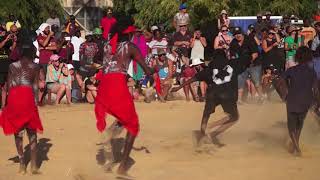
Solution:
<svg viewBox="0 0 320 180">
<path fill-rule="evenodd" d="M 103 75 L 95 100 L 97 129 L 106 128 L 106 115 L 110 114 L 134 136 L 139 132 L 139 120 L 132 96 L 127 86 L 126 75 L 111 73 Z"/>
</svg>

